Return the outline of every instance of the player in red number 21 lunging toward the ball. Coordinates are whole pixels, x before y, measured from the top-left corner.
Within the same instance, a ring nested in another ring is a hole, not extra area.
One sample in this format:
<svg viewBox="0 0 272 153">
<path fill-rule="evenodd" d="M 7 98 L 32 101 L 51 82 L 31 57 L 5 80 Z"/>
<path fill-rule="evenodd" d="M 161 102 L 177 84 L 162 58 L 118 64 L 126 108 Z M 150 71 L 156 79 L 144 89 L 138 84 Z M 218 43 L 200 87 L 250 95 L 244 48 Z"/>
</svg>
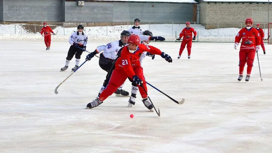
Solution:
<svg viewBox="0 0 272 153">
<path fill-rule="evenodd" d="M 133 80 L 141 93 L 143 98 L 144 106 L 148 109 L 152 109 L 153 105 L 147 99 L 147 94 L 144 92 L 147 91 L 146 81 L 144 79 L 143 68 L 140 64 L 140 57 L 144 51 L 147 51 L 151 54 L 160 55 L 169 63 L 172 62 L 172 59 L 169 55 L 161 52 L 159 49 L 153 46 L 146 46 L 145 44 L 139 44 L 140 37 L 138 35 L 130 35 L 128 37 L 128 45 L 121 48 L 121 57 L 115 59 L 115 70 L 113 70 L 111 78 L 109 80 L 108 85 L 102 91 L 99 98 L 94 99 L 91 103 L 87 105 L 88 109 L 99 106 L 103 103 L 103 101 L 108 98 L 108 96 L 112 95 L 116 91 L 116 89 L 125 82 L 125 80 L 129 77 Z M 119 50 L 119 51 L 120 51 Z"/>
</svg>

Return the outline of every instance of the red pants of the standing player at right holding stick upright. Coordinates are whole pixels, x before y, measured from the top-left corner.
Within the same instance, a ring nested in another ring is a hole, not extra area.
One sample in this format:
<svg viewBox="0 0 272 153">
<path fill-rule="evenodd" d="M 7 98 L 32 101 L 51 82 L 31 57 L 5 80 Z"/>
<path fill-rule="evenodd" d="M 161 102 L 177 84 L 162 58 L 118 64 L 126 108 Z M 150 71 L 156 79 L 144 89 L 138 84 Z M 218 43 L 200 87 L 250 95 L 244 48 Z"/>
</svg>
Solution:
<svg viewBox="0 0 272 153">
<path fill-rule="evenodd" d="M 244 72 L 245 63 L 247 63 L 247 74 L 251 74 L 253 67 L 253 61 L 255 57 L 256 49 L 240 49 L 239 51 L 239 74 L 242 75 Z"/>
</svg>

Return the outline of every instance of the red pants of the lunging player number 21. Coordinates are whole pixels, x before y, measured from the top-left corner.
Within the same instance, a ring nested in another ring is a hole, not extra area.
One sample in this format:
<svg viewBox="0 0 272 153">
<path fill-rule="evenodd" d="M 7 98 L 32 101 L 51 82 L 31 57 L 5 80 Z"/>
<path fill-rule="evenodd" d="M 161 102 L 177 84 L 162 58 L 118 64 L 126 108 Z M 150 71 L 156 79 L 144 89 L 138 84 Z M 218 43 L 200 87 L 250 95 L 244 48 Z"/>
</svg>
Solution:
<svg viewBox="0 0 272 153">
<path fill-rule="evenodd" d="M 143 68 L 142 67 L 134 67 L 133 70 L 134 70 L 135 75 L 137 75 L 144 82 L 143 86 L 144 86 L 145 91 L 147 92 Z M 123 68 L 117 66 L 115 68 L 115 70 L 112 71 L 112 76 L 109 80 L 109 83 L 106 86 L 106 88 L 102 91 L 102 93 L 99 97 L 99 100 L 104 101 L 105 99 L 108 98 L 108 96 L 111 96 L 117 90 L 117 88 L 125 82 L 125 80 L 127 78 L 128 78 L 128 75 L 127 75 L 127 73 L 125 73 Z M 140 86 L 138 86 L 138 87 L 139 87 L 139 91 L 141 93 L 142 98 L 147 98 L 147 94 L 144 92 L 143 87 L 140 87 Z"/>
</svg>

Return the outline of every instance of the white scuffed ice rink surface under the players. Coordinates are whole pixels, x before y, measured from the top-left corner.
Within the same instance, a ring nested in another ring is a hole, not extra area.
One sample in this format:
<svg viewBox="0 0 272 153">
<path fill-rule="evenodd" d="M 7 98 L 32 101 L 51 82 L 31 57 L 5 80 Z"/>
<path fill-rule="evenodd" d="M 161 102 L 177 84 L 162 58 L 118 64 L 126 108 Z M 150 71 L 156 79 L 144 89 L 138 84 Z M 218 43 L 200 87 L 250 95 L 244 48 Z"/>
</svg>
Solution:
<svg viewBox="0 0 272 153">
<path fill-rule="evenodd" d="M 91 42 L 87 50 L 108 42 Z M 68 41 L 0 41 L 0 152 L 271 152 L 272 46 L 257 54 L 248 83 L 238 83 L 239 50 L 234 43 L 193 43 L 177 60 L 180 43 L 151 42 L 173 58 L 143 61 L 146 80 L 180 101 L 178 105 L 148 87 L 161 116 L 150 112 L 138 93 L 112 95 L 94 109 L 84 109 L 96 98 L 106 72 L 94 57 L 71 74 L 60 72 L 70 47 Z M 239 46 L 240 47 L 240 44 Z M 87 53 L 83 52 L 80 63 Z M 246 74 L 246 68 L 244 76 Z M 131 93 L 127 80 L 123 89 Z M 129 115 L 134 114 L 134 118 Z"/>
</svg>

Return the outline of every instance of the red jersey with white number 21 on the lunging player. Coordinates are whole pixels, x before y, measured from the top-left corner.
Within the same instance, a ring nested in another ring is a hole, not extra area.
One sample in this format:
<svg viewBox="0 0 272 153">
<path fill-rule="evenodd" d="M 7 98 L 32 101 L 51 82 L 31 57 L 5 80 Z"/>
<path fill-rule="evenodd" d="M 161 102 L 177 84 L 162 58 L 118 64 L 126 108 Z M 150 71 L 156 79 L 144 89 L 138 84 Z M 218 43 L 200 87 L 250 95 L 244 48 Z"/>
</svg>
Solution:
<svg viewBox="0 0 272 153">
<path fill-rule="evenodd" d="M 147 46 L 144 44 L 139 44 L 137 50 L 134 53 L 130 53 L 128 51 L 128 45 L 123 47 L 121 51 L 121 57 L 119 57 L 115 63 L 115 67 L 123 68 L 124 71 L 128 74 L 128 77 L 132 79 L 135 75 L 133 68 L 134 67 L 141 67 L 140 64 L 140 57 L 143 52 L 149 52 L 151 54 L 161 55 L 161 51 L 153 46 Z"/>
</svg>

